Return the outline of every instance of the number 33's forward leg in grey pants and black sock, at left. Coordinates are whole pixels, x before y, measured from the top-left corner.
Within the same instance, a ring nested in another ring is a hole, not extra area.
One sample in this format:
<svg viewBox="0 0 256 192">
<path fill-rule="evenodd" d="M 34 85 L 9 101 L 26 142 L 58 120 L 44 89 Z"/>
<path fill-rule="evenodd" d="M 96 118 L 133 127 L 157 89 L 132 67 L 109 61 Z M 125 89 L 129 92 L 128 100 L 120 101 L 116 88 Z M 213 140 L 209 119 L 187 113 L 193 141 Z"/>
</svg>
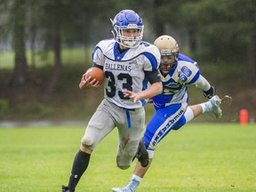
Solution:
<svg viewBox="0 0 256 192">
<path fill-rule="evenodd" d="M 115 127 L 111 116 L 109 116 L 110 113 L 107 112 L 108 108 L 104 105 L 105 102 L 106 100 L 101 102 L 86 127 L 84 137 L 81 140 L 81 147 L 74 158 L 68 187 L 62 186 L 63 192 L 75 191 L 78 181 L 88 167 L 92 150 Z"/>
</svg>

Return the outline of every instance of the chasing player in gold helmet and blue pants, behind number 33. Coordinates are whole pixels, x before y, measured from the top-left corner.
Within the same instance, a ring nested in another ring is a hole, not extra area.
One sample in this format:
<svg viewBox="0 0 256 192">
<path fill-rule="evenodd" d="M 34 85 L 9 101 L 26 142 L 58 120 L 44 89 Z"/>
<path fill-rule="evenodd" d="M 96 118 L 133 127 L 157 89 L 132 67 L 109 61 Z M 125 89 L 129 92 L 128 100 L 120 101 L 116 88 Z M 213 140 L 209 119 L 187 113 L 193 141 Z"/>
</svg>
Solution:
<svg viewBox="0 0 256 192">
<path fill-rule="evenodd" d="M 157 144 L 172 130 L 179 130 L 184 124 L 203 113 L 211 112 L 220 118 L 220 98 L 215 89 L 200 75 L 196 61 L 180 53 L 179 45 L 172 36 L 159 36 L 154 44 L 161 53 L 160 73 L 164 92 L 152 98 L 156 114 L 149 121 L 142 140 L 148 150 L 149 164 L 136 164 L 132 178 L 124 188 L 112 188 L 113 192 L 134 192 L 148 171 Z M 188 106 L 188 85 L 196 84 L 207 102 Z"/>
</svg>

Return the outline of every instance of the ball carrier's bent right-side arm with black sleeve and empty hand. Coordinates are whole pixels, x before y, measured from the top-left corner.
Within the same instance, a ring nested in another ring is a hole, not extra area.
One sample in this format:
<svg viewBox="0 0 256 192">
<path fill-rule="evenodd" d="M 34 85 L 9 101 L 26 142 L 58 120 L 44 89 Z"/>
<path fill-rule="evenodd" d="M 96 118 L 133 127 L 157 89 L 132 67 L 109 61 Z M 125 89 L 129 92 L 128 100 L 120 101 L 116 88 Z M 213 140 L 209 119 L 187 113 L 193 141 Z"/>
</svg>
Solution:
<svg viewBox="0 0 256 192">
<path fill-rule="evenodd" d="M 151 84 L 148 89 L 141 92 L 124 90 L 124 97 L 129 97 L 133 99 L 134 102 L 137 102 L 138 100 L 147 100 L 148 98 L 152 98 L 163 92 L 163 85 L 157 69 L 153 71 L 145 71 L 145 76 Z"/>
</svg>

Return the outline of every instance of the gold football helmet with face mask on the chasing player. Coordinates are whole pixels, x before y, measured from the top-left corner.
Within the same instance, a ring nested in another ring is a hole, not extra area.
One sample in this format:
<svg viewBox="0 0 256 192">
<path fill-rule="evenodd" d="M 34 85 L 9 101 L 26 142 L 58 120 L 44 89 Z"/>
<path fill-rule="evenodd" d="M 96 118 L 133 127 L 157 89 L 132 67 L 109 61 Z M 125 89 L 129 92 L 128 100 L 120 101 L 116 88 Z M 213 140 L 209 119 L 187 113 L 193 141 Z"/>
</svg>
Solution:
<svg viewBox="0 0 256 192">
<path fill-rule="evenodd" d="M 178 62 L 180 52 L 179 44 L 172 36 L 159 36 L 154 44 L 161 54 L 161 63 L 159 69 L 168 72 Z M 164 58 L 166 58 L 165 61 Z"/>
</svg>

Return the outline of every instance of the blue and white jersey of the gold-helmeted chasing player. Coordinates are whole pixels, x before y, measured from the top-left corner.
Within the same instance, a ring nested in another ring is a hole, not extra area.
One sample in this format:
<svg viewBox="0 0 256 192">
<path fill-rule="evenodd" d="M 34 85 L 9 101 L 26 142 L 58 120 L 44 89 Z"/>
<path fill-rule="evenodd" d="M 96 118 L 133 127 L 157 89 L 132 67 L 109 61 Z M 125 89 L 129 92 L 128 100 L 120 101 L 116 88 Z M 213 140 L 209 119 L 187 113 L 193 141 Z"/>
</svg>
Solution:
<svg viewBox="0 0 256 192">
<path fill-rule="evenodd" d="M 188 84 L 195 84 L 199 77 L 200 71 L 196 61 L 180 53 L 177 64 L 167 76 L 161 74 L 164 92 L 153 97 L 154 104 L 162 108 L 170 104 L 188 102 Z"/>
</svg>

